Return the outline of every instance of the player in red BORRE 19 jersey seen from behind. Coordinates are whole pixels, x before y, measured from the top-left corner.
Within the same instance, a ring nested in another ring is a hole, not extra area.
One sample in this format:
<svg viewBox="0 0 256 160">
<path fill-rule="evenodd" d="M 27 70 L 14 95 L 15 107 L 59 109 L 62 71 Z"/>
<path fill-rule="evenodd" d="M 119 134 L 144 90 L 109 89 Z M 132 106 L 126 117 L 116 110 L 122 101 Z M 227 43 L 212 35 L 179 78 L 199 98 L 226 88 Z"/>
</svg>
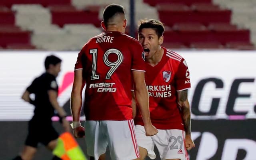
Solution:
<svg viewBox="0 0 256 160">
<path fill-rule="evenodd" d="M 87 154 L 101 159 L 108 146 L 113 160 L 132 160 L 139 157 L 132 119 L 132 77 L 146 135 L 158 132 L 150 121 L 144 52 L 138 40 L 124 34 L 126 19 L 122 6 L 106 6 L 101 25 L 105 31 L 84 45 L 75 64 L 71 95 L 74 135 L 82 137 L 84 133 L 80 111 L 86 83 Z"/>
</svg>

